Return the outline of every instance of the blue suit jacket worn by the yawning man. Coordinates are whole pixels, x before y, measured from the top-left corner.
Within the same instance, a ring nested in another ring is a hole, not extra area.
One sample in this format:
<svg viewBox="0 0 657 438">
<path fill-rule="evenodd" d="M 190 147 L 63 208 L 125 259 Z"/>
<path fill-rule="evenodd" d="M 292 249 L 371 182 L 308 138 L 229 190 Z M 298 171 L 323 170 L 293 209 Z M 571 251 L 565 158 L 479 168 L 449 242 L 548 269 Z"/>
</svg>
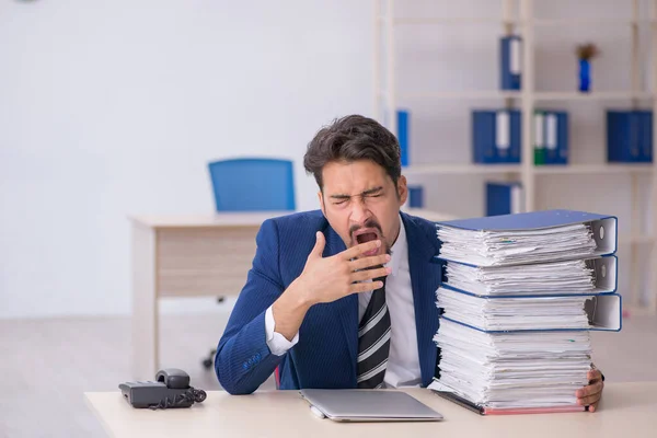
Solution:
<svg viewBox="0 0 657 438">
<path fill-rule="evenodd" d="M 433 337 L 438 330 L 435 291 L 439 266 L 436 228 L 425 219 L 401 214 L 408 243 L 408 266 L 422 381 L 431 382 L 437 366 Z M 228 325 L 217 348 L 215 371 L 232 394 L 255 391 L 279 366 L 280 389 L 356 388 L 358 350 L 358 296 L 315 304 L 299 328 L 299 343 L 283 356 L 266 343 L 265 311 L 301 274 L 315 244 L 315 233 L 326 238 L 324 256 L 346 250 L 320 210 L 268 219 L 257 234 L 257 251 Z"/>
</svg>

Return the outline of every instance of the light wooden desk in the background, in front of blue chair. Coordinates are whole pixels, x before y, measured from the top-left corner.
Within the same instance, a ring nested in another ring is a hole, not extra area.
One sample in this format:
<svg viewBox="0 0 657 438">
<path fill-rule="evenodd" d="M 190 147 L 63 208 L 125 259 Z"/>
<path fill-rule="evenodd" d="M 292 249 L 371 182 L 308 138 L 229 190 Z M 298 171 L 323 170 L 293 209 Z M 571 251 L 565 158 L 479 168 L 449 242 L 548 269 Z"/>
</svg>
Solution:
<svg viewBox="0 0 657 438">
<path fill-rule="evenodd" d="M 405 211 L 434 221 L 452 219 L 428 210 Z M 131 218 L 131 379 L 153 379 L 159 369 L 158 299 L 239 295 L 255 255 L 261 224 L 288 214 Z"/>
</svg>

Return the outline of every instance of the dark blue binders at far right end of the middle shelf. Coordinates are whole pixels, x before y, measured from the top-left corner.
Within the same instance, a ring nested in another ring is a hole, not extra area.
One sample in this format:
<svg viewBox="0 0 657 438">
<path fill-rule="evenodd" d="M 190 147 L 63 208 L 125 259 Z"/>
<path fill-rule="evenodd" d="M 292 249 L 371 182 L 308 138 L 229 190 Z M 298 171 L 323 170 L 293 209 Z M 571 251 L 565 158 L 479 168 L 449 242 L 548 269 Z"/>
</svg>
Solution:
<svg viewBox="0 0 657 438">
<path fill-rule="evenodd" d="M 607 111 L 607 161 L 610 163 L 653 162 L 652 111 Z"/>
</svg>

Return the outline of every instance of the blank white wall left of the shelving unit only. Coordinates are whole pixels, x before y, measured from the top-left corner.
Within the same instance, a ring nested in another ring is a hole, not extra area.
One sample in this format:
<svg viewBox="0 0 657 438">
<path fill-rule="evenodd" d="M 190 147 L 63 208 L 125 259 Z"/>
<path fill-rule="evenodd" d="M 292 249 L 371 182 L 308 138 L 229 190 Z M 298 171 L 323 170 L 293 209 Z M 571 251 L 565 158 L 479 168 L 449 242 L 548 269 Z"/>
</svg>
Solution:
<svg viewBox="0 0 657 438">
<path fill-rule="evenodd" d="M 0 2 L 0 316 L 129 311 L 129 214 L 211 212 L 206 163 L 371 115 L 370 1 Z"/>
</svg>

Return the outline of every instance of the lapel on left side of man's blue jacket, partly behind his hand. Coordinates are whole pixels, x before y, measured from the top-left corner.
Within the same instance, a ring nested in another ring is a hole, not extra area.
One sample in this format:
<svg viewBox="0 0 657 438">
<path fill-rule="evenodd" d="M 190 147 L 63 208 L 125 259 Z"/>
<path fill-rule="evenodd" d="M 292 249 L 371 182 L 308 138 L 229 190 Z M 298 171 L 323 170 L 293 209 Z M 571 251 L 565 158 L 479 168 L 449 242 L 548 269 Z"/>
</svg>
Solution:
<svg viewBox="0 0 657 438">
<path fill-rule="evenodd" d="M 324 257 L 330 257 L 345 251 L 347 247 L 341 237 L 328 227 L 325 232 L 326 246 L 324 247 Z M 358 356 L 358 295 L 353 293 L 334 302 L 335 312 L 337 312 L 345 338 L 349 358 L 354 364 L 353 380 L 356 384 L 356 357 Z"/>
</svg>

